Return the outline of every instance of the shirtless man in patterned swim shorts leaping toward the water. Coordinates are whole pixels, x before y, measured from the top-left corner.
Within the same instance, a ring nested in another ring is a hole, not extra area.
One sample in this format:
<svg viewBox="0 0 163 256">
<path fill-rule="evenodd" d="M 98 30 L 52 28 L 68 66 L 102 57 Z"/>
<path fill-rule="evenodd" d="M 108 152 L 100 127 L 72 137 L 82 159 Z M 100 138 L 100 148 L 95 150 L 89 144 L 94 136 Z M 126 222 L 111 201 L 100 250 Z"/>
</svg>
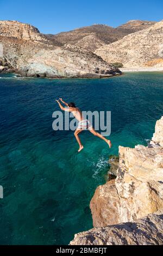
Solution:
<svg viewBox="0 0 163 256">
<path fill-rule="evenodd" d="M 62 103 L 64 103 L 65 106 L 67 107 L 63 107 L 60 103 L 60 101 Z M 60 108 L 64 111 L 67 111 L 67 112 L 72 112 L 72 114 L 74 115 L 74 117 L 79 121 L 78 123 L 78 127 L 76 129 L 76 131 L 74 132 L 74 136 L 76 137 L 77 139 L 77 142 L 79 144 L 79 150 L 78 152 L 80 152 L 84 147 L 82 145 L 82 142 L 80 141 L 80 138 L 79 138 L 79 133 L 84 131 L 84 130 L 89 130 L 93 135 L 103 139 L 108 145 L 109 145 L 109 148 L 111 148 L 111 141 L 109 141 L 109 139 L 106 139 L 105 137 L 103 137 L 100 133 L 96 132 L 95 129 L 93 129 L 92 125 L 90 124 L 90 121 L 87 120 L 87 119 L 84 119 L 83 117 L 83 114 L 82 114 L 82 111 L 80 111 L 79 108 L 76 107 L 76 105 L 71 102 L 71 103 L 66 103 L 64 100 L 62 100 L 61 98 L 59 100 L 56 100 L 60 106 Z"/>
</svg>

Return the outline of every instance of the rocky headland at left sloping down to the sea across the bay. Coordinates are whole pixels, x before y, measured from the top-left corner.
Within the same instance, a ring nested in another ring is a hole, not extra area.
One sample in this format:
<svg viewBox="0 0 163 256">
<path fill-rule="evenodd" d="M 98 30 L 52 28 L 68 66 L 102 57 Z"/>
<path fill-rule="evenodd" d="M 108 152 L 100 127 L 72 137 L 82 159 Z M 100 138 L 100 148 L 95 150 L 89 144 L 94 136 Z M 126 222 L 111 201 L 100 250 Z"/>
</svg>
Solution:
<svg viewBox="0 0 163 256">
<path fill-rule="evenodd" d="M 17 21 L 0 22 L 0 46 L 0 72 L 51 78 L 121 74 L 96 54 L 48 39 L 37 28 Z"/>
</svg>

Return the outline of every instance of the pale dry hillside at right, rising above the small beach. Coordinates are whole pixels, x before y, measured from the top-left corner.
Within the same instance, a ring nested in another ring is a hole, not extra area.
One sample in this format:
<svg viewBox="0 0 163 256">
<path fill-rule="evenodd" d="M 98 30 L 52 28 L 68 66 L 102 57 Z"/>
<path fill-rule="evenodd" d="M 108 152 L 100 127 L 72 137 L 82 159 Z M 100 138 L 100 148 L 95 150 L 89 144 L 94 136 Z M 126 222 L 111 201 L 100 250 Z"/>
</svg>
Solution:
<svg viewBox="0 0 163 256">
<path fill-rule="evenodd" d="M 95 53 L 108 63 L 121 62 L 124 68 L 163 66 L 163 21 L 98 48 Z"/>
</svg>

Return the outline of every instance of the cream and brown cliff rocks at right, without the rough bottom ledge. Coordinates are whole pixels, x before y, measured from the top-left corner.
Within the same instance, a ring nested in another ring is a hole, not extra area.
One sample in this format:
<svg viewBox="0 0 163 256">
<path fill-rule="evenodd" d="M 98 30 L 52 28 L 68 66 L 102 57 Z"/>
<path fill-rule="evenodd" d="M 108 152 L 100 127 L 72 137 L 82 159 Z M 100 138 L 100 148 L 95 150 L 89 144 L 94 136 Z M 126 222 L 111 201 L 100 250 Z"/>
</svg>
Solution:
<svg viewBox="0 0 163 256">
<path fill-rule="evenodd" d="M 163 208 L 162 131 L 163 118 L 148 147 L 119 147 L 115 185 L 99 186 L 90 203 L 94 227 L 135 221 Z"/>
</svg>

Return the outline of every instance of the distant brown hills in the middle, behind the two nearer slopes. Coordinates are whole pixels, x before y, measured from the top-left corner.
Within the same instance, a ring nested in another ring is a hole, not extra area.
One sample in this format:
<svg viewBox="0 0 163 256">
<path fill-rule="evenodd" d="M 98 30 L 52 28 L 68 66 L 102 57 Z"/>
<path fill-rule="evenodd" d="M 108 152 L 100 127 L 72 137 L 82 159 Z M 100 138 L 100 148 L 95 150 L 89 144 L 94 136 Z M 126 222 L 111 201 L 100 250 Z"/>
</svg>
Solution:
<svg viewBox="0 0 163 256">
<path fill-rule="evenodd" d="M 57 35 L 47 35 L 47 38 L 57 40 L 62 44 L 77 45 L 94 52 L 101 46 L 111 44 L 111 42 L 115 42 L 125 35 L 150 27 L 154 23 L 152 21 L 134 20 L 128 21 L 117 28 L 106 25 L 92 25 Z"/>
</svg>

